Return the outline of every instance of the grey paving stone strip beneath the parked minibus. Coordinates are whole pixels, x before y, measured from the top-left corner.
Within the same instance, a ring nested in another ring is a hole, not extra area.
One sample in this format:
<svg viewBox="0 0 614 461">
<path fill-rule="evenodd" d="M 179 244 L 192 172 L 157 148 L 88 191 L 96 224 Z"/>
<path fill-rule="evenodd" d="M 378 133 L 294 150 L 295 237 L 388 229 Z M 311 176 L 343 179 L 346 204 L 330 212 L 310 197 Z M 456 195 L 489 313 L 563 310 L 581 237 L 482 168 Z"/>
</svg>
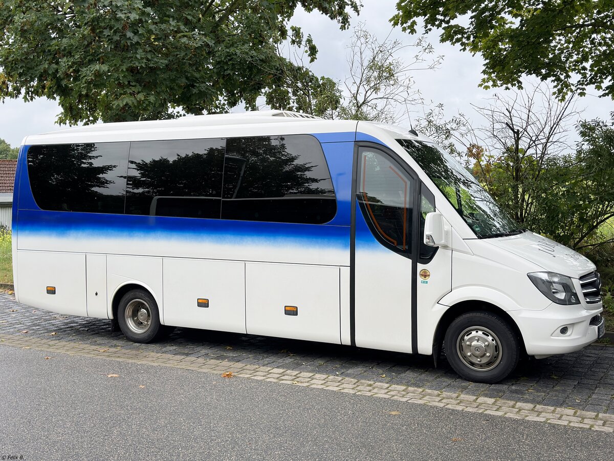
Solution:
<svg viewBox="0 0 614 461">
<path fill-rule="evenodd" d="M 445 358 L 434 368 L 430 357 L 317 342 L 177 328 L 165 341 L 135 344 L 120 332 L 112 333 L 109 320 L 33 309 L 18 304 L 14 296 L 4 293 L 0 294 L 0 334 L 51 339 L 58 344 L 68 341 L 99 349 L 119 348 L 119 351 L 142 353 L 143 357 L 160 353 L 228 360 L 437 393 L 462 393 L 484 399 L 614 414 L 614 347 L 602 345 L 591 345 L 567 355 L 523 361 L 508 379 L 489 385 L 459 378 Z"/>
</svg>

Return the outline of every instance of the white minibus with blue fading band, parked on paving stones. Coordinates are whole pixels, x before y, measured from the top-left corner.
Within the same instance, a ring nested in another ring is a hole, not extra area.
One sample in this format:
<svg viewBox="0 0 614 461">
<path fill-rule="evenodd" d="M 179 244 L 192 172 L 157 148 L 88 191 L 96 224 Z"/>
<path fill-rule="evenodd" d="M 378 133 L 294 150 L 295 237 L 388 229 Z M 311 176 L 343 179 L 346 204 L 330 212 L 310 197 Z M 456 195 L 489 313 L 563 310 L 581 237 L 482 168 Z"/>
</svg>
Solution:
<svg viewBox="0 0 614 461">
<path fill-rule="evenodd" d="M 519 229 L 412 130 L 283 111 L 28 136 L 15 296 L 109 318 L 433 355 L 494 383 L 604 334 L 594 264 Z"/>
</svg>

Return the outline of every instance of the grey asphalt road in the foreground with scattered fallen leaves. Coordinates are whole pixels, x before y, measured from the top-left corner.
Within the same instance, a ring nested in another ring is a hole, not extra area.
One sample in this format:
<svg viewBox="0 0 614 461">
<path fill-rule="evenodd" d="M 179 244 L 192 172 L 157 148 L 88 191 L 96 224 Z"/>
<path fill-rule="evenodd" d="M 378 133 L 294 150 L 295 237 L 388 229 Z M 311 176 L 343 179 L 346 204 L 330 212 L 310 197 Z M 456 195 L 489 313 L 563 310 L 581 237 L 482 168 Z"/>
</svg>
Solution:
<svg viewBox="0 0 614 461">
<path fill-rule="evenodd" d="M 0 460 L 609 460 L 614 445 L 592 430 L 32 349 L 2 347 L 0 376 Z"/>
</svg>

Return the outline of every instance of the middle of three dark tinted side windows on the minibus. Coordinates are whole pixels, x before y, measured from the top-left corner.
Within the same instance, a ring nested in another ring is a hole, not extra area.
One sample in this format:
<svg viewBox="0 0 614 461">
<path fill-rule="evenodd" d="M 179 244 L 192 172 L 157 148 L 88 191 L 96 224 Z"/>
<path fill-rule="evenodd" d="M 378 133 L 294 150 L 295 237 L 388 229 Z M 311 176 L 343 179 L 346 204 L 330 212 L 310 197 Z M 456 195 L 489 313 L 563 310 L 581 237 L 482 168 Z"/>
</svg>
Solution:
<svg viewBox="0 0 614 461">
<path fill-rule="evenodd" d="M 224 141 L 131 143 L 126 214 L 220 217 Z"/>
</svg>

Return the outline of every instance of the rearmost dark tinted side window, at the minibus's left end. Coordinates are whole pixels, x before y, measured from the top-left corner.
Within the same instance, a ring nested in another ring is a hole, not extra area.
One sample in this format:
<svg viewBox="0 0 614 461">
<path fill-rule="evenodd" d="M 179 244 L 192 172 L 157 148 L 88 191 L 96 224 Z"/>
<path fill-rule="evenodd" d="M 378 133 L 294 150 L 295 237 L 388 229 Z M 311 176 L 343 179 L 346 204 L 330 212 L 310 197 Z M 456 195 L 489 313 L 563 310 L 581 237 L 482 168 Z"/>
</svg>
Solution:
<svg viewBox="0 0 614 461">
<path fill-rule="evenodd" d="M 37 205 L 43 210 L 123 213 L 129 146 L 32 146 L 28 175 Z"/>
</svg>

